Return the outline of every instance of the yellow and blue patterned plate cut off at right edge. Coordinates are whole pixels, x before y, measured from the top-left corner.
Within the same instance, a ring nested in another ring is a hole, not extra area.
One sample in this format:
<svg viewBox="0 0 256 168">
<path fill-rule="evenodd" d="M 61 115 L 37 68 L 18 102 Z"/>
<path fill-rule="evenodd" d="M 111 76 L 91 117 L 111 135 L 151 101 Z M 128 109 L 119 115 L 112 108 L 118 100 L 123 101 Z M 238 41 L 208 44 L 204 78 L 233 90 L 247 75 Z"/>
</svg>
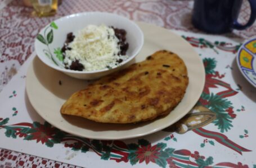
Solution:
<svg viewBox="0 0 256 168">
<path fill-rule="evenodd" d="M 241 45 L 236 62 L 245 79 L 256 87 L 256 38 Z"/>
</svg>

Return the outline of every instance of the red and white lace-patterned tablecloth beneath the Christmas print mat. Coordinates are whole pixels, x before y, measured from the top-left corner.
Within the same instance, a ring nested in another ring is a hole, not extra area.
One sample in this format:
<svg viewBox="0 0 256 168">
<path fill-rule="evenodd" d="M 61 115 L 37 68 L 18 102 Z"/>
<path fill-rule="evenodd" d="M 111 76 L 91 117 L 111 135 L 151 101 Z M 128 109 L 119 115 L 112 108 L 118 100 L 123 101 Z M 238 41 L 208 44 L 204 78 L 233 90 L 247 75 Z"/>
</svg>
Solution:
<svg viewBox="0 0 256 168">
<path fill-rule="evenodd" d="M 8 82 L 15 76 L 20 67 L 23 66 L 26 60 L 34 52 L 34 39 L 39 30 L 49 22 L 56 20 L 56 18 L 78 12 L 102 11 L 117 13 L 118 15 L 128 17 L 134 21 L 143 21 L 167 29 L 204 34 L 204 32 L 195 29 L 191 25 L 191 11 L 193 4 L 193 1 L 182 0 L 63 0 L 55 16 L 38 18 L 31 15 L 33 8 L 25 7 L 22 1 L 1 0 L 0 91 L 8 85 Z M 246 22 L 249 15 L 249 3 L 244 1 L 239 15 L 239 21 Z M 246 30 L 234 30 L 232 33 L 224 34 L 222 36 L 242 41 L 255 34 L 256 24 Z M 194 39 L 187 37 L 186 40 L 192 45 L 195 45 Z M 243 108 L 241 108 L 241 110 L 242 109 Z M 230 110 L 232 112 L 232 109 Z M 243 135 L 244 137 L 248 134 L 246 132 L 247 131 L 245 131 Z M 205 144 L 206 141 L 209 140 L 205 140 L 203 143 Z M 194 155 L 197 154 L 195 153 Z M 40 167 L 45 165 L 46 162 L 48 165 L 54 165 L 55 167 L 78 167 L 0 148 L 0 167 L 17 167 L 25 165 L 27 167 L 28 165 Z M 239 166 L 239 164 L 236 166 Z"/>
</svg>

